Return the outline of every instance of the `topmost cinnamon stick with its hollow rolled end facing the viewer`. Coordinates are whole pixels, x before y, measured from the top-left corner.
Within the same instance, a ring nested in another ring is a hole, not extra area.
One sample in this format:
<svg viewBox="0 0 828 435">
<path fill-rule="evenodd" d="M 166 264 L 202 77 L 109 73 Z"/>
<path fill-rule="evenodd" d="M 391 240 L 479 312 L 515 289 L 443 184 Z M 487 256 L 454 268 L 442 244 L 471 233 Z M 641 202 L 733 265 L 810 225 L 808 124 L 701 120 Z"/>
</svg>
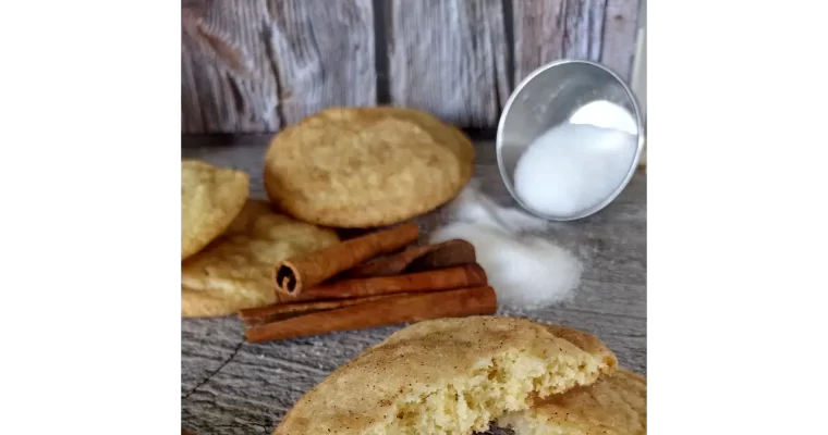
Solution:
<svg viewBox="0 0 828 435">
<path fill-rule="evenodd" d="M 299 296 L 303 289 L 351 269 L 381 253 L 393 252 L 419 236 L 417 225 L 409 223 L 353 238 L 327 249 L 281 261 L 273 268 L 277 291 Z"/>
</svg>

